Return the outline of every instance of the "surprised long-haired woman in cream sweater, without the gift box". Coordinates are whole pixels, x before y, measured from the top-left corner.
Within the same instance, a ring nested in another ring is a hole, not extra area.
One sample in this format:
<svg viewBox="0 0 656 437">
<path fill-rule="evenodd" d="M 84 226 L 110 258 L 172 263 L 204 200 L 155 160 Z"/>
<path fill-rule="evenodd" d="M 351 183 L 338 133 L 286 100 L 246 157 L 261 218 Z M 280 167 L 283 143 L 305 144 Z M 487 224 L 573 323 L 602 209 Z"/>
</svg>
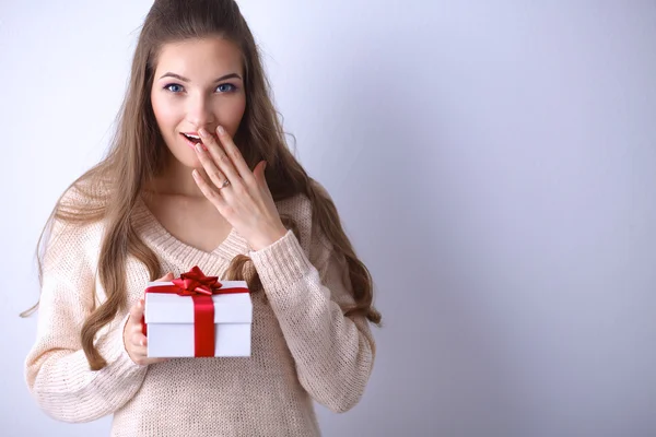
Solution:
<svg viewBox="0 0 656 437">
<path fill-rule="evenodd" d="M 113 414 L 115 436 L 307 437 L 313 400 L 361 398 L 372 279 L 285 145 L 234 1 L 154 2 L 110 152 L 48 224 L 26 378 L 50 416 Z M 250 357 L 147 357 L 145 284 L 192 265 L 248 282 Z"/>
</svg>

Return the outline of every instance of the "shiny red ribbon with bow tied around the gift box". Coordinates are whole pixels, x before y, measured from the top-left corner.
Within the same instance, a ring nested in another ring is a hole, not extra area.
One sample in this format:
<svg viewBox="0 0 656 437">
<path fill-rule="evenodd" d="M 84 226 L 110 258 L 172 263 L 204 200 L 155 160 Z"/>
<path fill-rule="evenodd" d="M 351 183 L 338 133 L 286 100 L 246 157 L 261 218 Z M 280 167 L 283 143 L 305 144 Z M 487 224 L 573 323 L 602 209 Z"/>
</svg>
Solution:
<svg viewBox="0 0 656 437">
<path fill-rule="evenodd" d="M 155 285 L 145 288 L 145 293 L 177 294 L 194 299 L 194 356 L 214 356 L 214 302 L 213 294 L 248 293 L 248 288 L 222 288 L 219 276 L 206 276 L 195 265 L 191 271 L 180 274 L 172 281 L 173 285 Z M 143 334 L 147 335 L 145 319 L 141 319 Z"/>
</svg>

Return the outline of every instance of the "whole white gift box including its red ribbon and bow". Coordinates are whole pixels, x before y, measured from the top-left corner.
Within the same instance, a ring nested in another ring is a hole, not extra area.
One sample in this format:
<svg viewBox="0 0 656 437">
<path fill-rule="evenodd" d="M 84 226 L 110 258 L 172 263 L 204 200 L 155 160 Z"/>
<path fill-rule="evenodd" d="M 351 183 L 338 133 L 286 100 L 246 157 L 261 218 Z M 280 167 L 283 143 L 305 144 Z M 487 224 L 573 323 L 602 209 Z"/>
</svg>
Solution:
<svg viewBox="0 0 656 437">
<path fill-rule="evenodd" d="M 195 267 L 145 288 L 142 324 L 152 358 L 250 356 L 251 323 L 245 281 L 219 282 Z"/>
</svg>

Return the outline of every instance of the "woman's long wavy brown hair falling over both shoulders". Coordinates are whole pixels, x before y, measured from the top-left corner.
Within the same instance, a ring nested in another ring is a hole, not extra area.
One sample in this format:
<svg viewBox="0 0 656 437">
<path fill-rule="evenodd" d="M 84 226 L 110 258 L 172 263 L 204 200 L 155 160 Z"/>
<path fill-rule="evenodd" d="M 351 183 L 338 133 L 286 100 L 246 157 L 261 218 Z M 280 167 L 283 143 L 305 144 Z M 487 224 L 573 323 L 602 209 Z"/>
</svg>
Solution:
<svg viewBox="0 0 656 437">
<path fill-rule="evenodd" d="M 235 134 L 236 144 L 250 168 L 267 162 L 266 178 L 274 201 L 305 194 L 312 202 L 313 227 L 318 227 L 343 257 L 349 269 L 355 305 L 347 316 L 364 316 L 379 324 L 380 314 L 372 306 L 373 282 L 366 267 L 358 259 L 328 194 L 312 179 L 292 155 L 269 95 L 256 43 L 239 8 L 233 0 L 155 0 L 141 29 L 132 60 L 129 87 L 117 118 L 117 129 L 103 161 L 71 184 L 82 198 L 66 202 L 62 196 L 48 218 L 83 225 L 103 220 L 106 231 L 101 246 L 97 274 L 107 299 L 84 321 L 82 347 L 91 368 L 98 370 L 105 359 L 93 344 L 96 332 L 119 311 L 127 310 L 126 261 L 129 255 L 143 262 L 151 280 L 159 277 L 156 255 L 141 240 L 130 220 L 142 188 L 161 174 L 166 153 L 150 101 L 150 90 L 157 64 L 157 54 L 167 43 L 190 38 L 222 37 L 239 47 L 243 55 L 246 110 Z M 68 191 L 68 190 L 67 190 Z M 82 200 L 80 200 L 82 199 Z M 282 217 L 294 228 L 289 217 Z M 39 283 L 43 280 L 42 256 L 37 244 Z M 244 255 L 232 260 L 224 279 L 247 280 L 258 287 L 259 277 L 250 259 Z M 38 305 L 38 304 L 37 304 Z M 22 316 L 31 314 L 34 308 Z"/>
</svg>

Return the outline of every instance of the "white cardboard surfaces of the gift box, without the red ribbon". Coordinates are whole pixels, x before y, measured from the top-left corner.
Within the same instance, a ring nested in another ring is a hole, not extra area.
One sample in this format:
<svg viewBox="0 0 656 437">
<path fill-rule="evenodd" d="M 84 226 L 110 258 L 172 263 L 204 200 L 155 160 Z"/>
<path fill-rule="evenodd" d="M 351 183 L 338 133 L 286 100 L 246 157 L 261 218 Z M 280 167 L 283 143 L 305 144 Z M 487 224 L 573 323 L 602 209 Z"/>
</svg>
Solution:
<svg viewBox="0 0 656 437">
<path fill-rule="evenodd" d="M 224 288 L 247 288 L 245 281 L 221 281 Z M 149 282 L 148 287 L 173 285 Z M 212 295 L 214 302 L 214 356 L 250 356 L 253 302 L 249 293 Z M 194 298 L 177 294 L 147 293 L 144 320 L 148 356 L 195 356 Z"/>
</svg>

